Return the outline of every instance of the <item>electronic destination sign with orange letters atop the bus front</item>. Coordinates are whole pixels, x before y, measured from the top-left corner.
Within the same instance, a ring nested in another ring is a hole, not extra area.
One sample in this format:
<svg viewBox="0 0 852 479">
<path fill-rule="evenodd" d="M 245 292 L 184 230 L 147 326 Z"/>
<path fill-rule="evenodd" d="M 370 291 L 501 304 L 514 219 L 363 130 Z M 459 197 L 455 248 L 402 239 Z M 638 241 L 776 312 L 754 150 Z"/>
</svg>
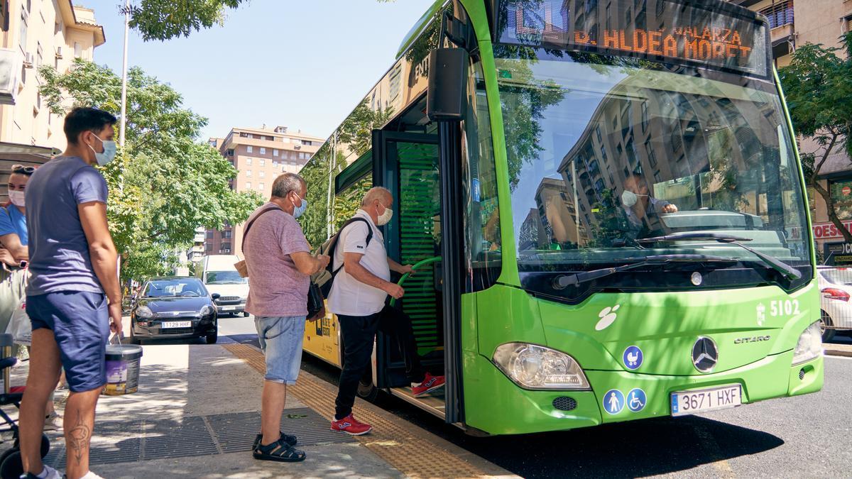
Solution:
<svg viewBox="0 0 852 479">
<path fill-rule="evenodd" d="M 670 0 L 636 10 L 591 3 L 573 3 L 581 10 L 572 12 L 562 0 L 504 2 L 500 42 L 768 73 L 766 27 L 755 20 Z"/>
</svg>

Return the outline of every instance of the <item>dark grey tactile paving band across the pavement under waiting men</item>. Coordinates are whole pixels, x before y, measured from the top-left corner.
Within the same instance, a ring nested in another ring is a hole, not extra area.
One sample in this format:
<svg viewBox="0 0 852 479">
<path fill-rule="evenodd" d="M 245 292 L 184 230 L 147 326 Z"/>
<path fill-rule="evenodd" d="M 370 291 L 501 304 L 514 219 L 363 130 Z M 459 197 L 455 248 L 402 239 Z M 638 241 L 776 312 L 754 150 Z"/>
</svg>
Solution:
<svg viewBox="0 0 852 479">
<path fill-rule="evenodd" d="M 117 464 L 151 459 L 175 459 L 219 453 L 248 453 L 261 414 L 228 413 L 171 419 L 97 421 L 89 462 Z M 295 434 L 300 446 L 354 441 L 352 436 L 329 429 L 328 421 L 308 407 L 285 409 L 281 430 Z M 59 432 L 49 434 L 51 449 L 45 464 L 65 467 L 65 440 Z"/>
</svg>

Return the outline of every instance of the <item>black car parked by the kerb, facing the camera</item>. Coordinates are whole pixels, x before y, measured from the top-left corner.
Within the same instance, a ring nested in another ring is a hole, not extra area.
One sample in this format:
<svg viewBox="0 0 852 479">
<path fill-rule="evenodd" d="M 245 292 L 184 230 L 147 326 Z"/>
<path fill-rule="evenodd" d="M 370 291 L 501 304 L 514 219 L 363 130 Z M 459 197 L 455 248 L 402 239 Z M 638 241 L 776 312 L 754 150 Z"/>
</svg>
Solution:
<svg viewBox="0 0 852 479">
<path fill-rule="evenodd" d="M 218 325 L 214 301 L 204 284 L 193 277 L 147 280 L 130 309 L 130 342 L 150 338 L 205 338 L 216 343 Z"/>
</svg>

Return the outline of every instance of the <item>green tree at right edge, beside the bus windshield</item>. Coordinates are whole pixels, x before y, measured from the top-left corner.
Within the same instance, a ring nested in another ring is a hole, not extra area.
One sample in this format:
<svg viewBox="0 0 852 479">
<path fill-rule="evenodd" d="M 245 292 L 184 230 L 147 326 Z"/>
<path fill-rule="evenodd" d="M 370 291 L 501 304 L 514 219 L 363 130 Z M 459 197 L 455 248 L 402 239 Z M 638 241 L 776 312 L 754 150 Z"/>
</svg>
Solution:
<svg viewBox="0 0 852 479">
<path fill-rule="evenodd" d="M 852 156 L 852 32 L 842 37 L 842 43 L 841 48 L 802 45 L 778 74 L 797 134 L 817 145 L 814 151 L 801 152 L 808 186 L 826 200 L 829 220 L 852 243 L 831 191 L 820 184 L 821 170 L 833 153 L 844 149 Z"/>
</svg>

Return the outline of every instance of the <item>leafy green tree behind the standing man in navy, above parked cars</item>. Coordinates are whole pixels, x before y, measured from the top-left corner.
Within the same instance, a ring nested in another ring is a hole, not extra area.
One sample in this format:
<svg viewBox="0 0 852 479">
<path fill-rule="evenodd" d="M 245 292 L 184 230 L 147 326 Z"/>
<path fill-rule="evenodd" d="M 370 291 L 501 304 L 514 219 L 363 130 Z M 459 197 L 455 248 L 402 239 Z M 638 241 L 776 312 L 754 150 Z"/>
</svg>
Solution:
<svg viewBox="0 0 852 479">
<path fill-rule="evenodd" d="M 51 112 L 64 114 L 74 104 L 118 113 L 121 78 L 108 68 L 78 59 L 67 73 L 49 66 L 39 72 Z M 179 93 L 138 67 L 127 88 L 125 145 L 103 173 L 122 277 L 138 279 L 173 268 L 174 251 L 192 245 L 195 228 L 243 222 L 262 199 L 230 188 L 237 171 L 197 142 L 207 120 L 183 108 Z"/>
</svg>

